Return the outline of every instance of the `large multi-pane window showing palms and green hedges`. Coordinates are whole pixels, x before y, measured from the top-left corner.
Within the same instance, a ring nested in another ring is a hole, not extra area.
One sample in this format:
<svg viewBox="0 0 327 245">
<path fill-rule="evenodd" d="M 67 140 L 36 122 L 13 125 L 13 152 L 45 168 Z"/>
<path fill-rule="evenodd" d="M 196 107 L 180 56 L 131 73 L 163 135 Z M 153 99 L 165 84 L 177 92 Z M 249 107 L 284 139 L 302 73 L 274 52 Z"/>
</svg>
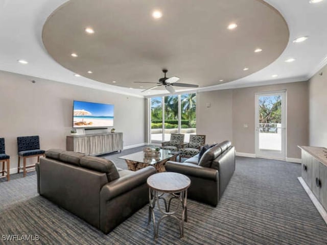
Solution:
<svg viewBox="0 0 327 245">
<path fill-rule="evenodd" d="M 150 105 L 151 142 L 169 141 L 172 133 L 185 134 L 189 142 L 196 134 L 196 93 L 154 97 Z"/>
</svg>

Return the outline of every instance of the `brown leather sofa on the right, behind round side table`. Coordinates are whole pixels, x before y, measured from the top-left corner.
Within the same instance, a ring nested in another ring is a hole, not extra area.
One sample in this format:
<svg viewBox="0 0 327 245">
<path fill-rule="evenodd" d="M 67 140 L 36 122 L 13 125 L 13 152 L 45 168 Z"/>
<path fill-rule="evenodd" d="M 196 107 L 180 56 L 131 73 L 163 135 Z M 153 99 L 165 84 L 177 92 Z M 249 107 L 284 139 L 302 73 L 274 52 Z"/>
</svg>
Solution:
<svg viewBox="0 0 327 245">
<path fill-rule="evenodd" d="M 235 171 L 235 147 L 226 140 L 183 163 L 168 161 L 166 171 L 184 174 L 191 179 L 188 198 L 217 206 Z"/>
</svg>

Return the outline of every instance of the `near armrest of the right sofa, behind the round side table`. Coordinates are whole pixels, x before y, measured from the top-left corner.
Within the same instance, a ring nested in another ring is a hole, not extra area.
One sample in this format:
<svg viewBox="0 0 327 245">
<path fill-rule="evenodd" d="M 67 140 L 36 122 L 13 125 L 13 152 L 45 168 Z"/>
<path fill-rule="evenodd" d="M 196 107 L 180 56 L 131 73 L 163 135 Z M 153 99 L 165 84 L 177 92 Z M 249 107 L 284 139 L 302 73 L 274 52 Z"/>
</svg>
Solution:
<svg viewBox="0 0 327 245">
<path fill-rule="evenodd" d="M 201 167 L 193 163 L 166 162 L 166 171 L 184 174 L 208 180 L 219 180 L 218 170 L 208 167 Z"/>
</svg>

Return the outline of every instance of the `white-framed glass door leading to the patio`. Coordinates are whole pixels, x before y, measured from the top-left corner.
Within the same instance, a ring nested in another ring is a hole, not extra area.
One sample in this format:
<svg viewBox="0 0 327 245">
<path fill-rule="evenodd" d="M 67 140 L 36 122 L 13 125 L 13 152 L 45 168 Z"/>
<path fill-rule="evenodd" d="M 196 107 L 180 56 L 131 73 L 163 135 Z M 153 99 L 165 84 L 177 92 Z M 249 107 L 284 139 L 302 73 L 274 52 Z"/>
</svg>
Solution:
<svg viewBox="0 0 327 245">
<path fill-rule="evenodd" d="M 255 94 L 255 155 L 286 158 L 286 92 Z"/>
</svg>

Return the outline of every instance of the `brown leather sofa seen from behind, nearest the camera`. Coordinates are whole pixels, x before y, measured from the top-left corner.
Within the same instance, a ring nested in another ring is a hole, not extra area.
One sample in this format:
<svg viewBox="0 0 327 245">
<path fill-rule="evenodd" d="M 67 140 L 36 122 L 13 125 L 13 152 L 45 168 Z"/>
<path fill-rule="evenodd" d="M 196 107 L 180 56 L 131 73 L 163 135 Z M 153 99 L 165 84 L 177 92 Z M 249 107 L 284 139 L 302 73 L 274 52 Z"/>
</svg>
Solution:
<svg viewBox="0 0 327 245">
<path fill-rule="evenodd" d="M 40 195 L 109 233 L 149 202 L 147 178 L 155 168 L 116 168 L 113 162 L 77 152 L 49 150 L 36 164 Z"/>
</svg>

